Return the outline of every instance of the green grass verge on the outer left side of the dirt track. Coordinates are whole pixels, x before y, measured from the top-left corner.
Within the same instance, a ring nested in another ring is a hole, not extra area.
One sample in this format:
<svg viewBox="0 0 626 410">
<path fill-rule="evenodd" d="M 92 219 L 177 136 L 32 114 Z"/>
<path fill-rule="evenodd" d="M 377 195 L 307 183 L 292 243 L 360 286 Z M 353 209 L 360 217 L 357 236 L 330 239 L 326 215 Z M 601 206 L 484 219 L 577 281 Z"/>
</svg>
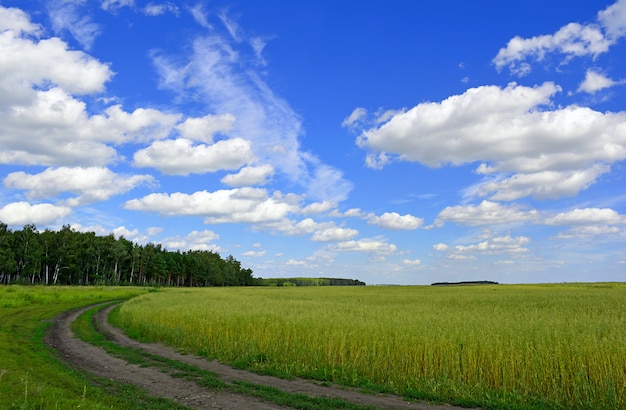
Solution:
<svg viewBox="0 0 626 410">
<path fill-rule="evenodd" d="M 44 344 L 67 310 L 146 293 L 141 288 L 0 286 L 0 408 L 183 409 L 133 386 L 73 371 Z"/>
</svg>

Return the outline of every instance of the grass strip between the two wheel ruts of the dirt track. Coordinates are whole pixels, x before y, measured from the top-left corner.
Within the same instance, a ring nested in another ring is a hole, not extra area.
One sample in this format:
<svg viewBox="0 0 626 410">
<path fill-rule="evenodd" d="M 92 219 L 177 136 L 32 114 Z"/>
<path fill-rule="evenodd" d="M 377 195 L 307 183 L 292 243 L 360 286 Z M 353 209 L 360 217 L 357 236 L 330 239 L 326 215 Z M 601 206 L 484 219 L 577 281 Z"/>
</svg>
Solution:
<svg viewBox="0 0 626 410">
<path fill-rule="evenodd" d="M 100 346 L 110 354 L 115 355 L 116 357 L 119 357 L 129 363 L 134 363 L 146 367 L 156 367 L 170 374 L 172 377 L 184 378 L 185 380 L 193 381 L 199 386 L 211 390 L 224 390 L 236 394 L 253 396 L 294 409 L 375 409 L 375 407 L 357 405 L 337 398 L 309 397 L 304 394 L 288 393 L 273 387 L 259 385 L 246 381 L 234 381 L 232 384 L 229 384 L 222 381 L 219 376 L 214 372 L 199 369 L 195 366 L 181 363 L 176 360 L 160 357 L 158 355 L 145 352 L 141 349 L 121 347 L 107 340 L 107 338 L 99 332 L 94 324 L 94 315 L 108 305 L 109 304 L 94 306 L 93 308 L 85 311 L 73 323 L 72 330 L 74 331 L 74 334 L 81 340 L 95 346 Z M 115 318 L 118 313 L 119 306 L 112 310 L 110 316 Z M 115 319 L 113 319 L 113 322 L 115 322 Z"/>
</svg>

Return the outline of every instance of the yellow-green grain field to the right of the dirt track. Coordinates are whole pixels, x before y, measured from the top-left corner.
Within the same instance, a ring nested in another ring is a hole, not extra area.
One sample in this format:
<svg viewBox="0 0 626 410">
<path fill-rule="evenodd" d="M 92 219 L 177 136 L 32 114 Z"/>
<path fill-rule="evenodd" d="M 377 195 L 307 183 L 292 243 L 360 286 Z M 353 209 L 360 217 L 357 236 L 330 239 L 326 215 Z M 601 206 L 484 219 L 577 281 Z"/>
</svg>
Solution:
<svg viewBox="0 0 626 410">
<path fill-rule="evenodd" d="M 180 289 L 118 320 L 242 367 L 415 398 L 626 406 L 625 284 Z"/>
</svg>

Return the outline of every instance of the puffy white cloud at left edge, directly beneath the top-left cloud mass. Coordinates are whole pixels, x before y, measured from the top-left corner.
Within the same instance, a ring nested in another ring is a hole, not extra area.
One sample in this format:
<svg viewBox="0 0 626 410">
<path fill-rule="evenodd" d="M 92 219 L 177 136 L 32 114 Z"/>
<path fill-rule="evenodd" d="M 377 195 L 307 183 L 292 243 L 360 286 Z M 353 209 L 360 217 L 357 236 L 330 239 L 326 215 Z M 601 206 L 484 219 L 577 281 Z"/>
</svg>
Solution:
<svg viewBox="0 0 626 410">
<path fill-rule="evenodd" d="M 33 93 L 29 104 L 0 111 L 2 163 L 102 166 L 118 160 L 106 143 L 164 137 L 179 118 L 151 109 L 126 113 L 119 106 L 88 117 L 85 104 L 60 88 Z"/>
</svg>

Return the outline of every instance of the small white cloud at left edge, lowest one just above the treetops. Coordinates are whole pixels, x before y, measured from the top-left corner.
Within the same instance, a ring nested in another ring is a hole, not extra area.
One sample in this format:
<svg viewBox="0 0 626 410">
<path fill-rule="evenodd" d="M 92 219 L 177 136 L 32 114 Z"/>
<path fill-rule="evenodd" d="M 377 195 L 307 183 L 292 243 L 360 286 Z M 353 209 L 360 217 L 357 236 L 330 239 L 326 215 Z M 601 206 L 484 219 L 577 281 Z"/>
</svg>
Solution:
<svg viewBox="0 0 626 410">
<path fill-rule="evenodd" d="M 66 206 L 12 202 L 0 208 L 0 221 L 7 225 L 18 226 L 26 224 L 49 225 L 71 213 L 72 209 Z"/>
</svg>

